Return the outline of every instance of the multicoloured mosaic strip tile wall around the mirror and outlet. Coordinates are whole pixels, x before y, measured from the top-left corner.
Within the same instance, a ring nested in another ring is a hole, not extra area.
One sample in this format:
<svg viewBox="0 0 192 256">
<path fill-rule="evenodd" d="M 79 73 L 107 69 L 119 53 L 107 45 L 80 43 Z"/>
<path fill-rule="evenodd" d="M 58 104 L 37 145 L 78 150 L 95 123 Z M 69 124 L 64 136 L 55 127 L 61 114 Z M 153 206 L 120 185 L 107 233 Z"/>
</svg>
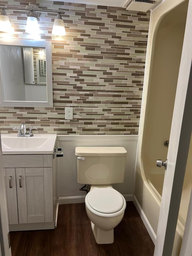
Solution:
<svg viewBox="0 0 192 256">
<path fill-rule="evenodd" d="M 1 107 L 1 132 L 25 122 L 39 133 L 138 134 L 150 13 L 43 0 L 0 5 L 29 2 L 65 11 L 62 38 L 51 34 L 55 14 L 42 13 L 39 21 L 41 39 L 52 41 L 54 107 Z M 28 38 L 25 13 L 7 14 L 13 38 Z M 65 120 L 65 107 L 73 107 L 73 120 Z"/>
</svg>

